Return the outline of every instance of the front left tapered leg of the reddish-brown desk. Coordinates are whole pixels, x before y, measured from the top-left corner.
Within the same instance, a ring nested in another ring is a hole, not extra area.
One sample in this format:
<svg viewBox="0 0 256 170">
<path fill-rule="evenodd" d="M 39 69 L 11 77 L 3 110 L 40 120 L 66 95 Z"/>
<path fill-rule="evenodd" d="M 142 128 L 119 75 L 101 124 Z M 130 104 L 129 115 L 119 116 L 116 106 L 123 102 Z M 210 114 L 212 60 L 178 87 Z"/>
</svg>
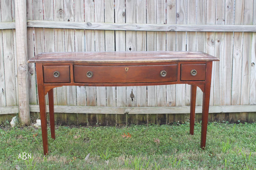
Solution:
<svg viewBox="0 0 256 170">
<path fill-rule="evenodd" d="M 45 102 L 45 95 L 44 95 L 42 63 L 37 63 L 36 68 L 37 68 L 37 86 L 38 86 L 38 99 L 39 99 L 39 108 L 40 108 L 43 148 L 44 148 L 44 155 L 46 155 L 48 154 L 48 137 L 47 137 L 46 102 Z"/>
</svg>

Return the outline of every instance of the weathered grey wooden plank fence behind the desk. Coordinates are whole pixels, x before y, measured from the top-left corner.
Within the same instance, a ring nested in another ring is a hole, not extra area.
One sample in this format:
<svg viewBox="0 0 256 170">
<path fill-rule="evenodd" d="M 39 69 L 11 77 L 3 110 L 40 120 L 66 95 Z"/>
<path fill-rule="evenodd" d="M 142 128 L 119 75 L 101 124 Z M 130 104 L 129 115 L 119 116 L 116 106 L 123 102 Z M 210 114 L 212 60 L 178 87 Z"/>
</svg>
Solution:
<svg viewBox="0 0 256 170">
<path fill-rule="evenodd" d="M 18 113 L 14 3 L 0 0 L 2 119 Z M 26 5 L 28 58 L 60 51 L 204 51 L 220 58 L 213 64 L 210 113 L 215 114 L 209 119 L 255 121 L 256 0 L 27 0 Z M 39 112 L 34 64 L 28 65 L 28 79 L 30 112 Z M 56 119 L 75 124 L 184 121 L 180 113 L 189 113 L 189 100 L 190 85 L 183 84 L 54 89 Z M 200 89 L 196 105 L 200 113 Z M 230 112 L 243 114 L 222 114 Z"/>
</svg>

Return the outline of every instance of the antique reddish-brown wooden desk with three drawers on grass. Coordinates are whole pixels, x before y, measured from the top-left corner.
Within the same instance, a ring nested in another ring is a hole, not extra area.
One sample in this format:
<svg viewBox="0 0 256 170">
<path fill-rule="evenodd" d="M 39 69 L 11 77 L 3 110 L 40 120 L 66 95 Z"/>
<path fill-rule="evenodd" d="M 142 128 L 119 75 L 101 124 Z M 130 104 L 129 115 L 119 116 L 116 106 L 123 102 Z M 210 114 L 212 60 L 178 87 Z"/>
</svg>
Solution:
<svg viewBox="0 0 256 170">
<path fill-rule="evenodd" d="M 197 86 L 203 91 L 201 148 L 208 124 L 212 62 L 203 52 L 56 52 L 40 53 L 36 63 L 44 154 L 48 153 L 46 104 L 48 93 L 51 136 L 55 139 L 53 88 L 60 86 L 145 86 L 190 84 L 190 134 L 194 134 Z"/>
</svg>

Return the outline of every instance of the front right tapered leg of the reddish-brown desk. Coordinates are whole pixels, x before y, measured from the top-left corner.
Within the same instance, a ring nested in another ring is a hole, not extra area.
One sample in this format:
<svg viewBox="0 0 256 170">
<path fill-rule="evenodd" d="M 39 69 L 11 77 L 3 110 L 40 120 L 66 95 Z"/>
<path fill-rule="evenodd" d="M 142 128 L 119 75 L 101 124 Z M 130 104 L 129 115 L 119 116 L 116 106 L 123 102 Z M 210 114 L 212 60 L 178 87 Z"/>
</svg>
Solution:
<svg viewBox="0 0 256 170">
<path fill-rule="evenodd" d="M 205 87 L 203 92 L 203 109 L 202 109 L 202 129 L 201 129 L 201 148 L 205 148 L 209 103 L 210 103 L 210 90 L 212 79 L 212 62 L 206 64 Z"/>
</svg>

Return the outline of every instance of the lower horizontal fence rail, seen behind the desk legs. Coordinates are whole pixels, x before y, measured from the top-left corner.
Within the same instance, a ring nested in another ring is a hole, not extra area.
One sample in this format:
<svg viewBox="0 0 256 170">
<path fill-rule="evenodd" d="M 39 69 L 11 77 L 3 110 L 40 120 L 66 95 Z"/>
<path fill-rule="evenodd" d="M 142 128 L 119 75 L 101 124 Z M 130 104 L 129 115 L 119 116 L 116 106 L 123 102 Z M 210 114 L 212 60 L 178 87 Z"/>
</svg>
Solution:
<svg viewBox="0 0 256 170">
<path fill-rule="evenodd" d="M 30 112 L 39 112 L 39 105 L 30 105 Z M 46 106 L 49 112 L 49 106 Z M 210 106 L 209 113 L 255 112 L 256 105 Z M 189 106 L 173 107 L 105 107 L 105 106 L 54 106 L 55 113 L 80 114 L 188 114 Z M 0 107 L 0 115 L 17 114 L 18 106 Z M 202 106 L 196 106 L 196 113 L 202 113 Z"/>
</svg>

